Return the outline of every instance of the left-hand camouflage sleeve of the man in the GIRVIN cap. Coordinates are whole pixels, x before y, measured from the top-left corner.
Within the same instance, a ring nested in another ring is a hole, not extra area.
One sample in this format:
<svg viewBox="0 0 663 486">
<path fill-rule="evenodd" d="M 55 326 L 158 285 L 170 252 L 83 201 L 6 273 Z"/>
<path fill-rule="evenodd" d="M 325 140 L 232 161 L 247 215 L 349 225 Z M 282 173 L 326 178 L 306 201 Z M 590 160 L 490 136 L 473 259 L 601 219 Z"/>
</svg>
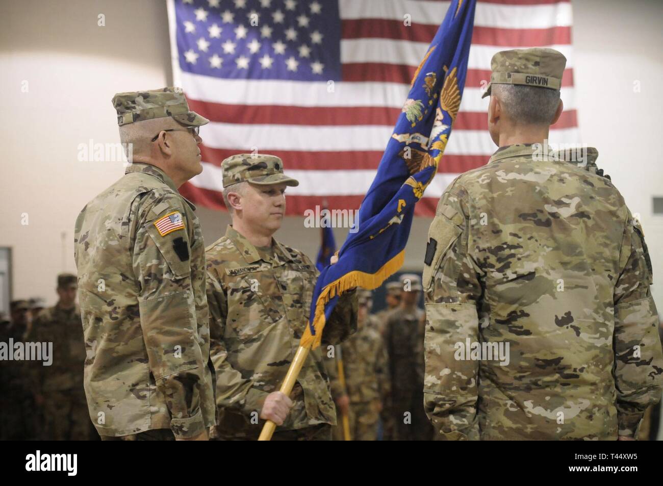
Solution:
<svg viewBox="0 0 663 486">
<path fill-rule="evenodd" d="M 473 360 L 454 359 L 455 343 L 479 340 L 478 265 L 468 251 L 467 192 L 452 184 L 428 231 L 423 285 L 424 409 L 442 440 L 479 438 L 477 374 Z"/>
</svg>

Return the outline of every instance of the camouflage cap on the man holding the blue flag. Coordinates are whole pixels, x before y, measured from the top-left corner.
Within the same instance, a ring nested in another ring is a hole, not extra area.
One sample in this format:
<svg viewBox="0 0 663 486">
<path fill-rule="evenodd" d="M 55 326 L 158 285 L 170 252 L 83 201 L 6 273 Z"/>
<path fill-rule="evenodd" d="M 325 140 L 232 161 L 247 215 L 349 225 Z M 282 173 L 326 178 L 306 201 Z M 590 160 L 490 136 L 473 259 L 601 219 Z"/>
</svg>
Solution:
<svg viewBox="0 0 663 486">
<path fill-rule="evenodd" d="M 245 180 L 267 186 L 282 184 L 299 186 L 299 181 L 283 174 L 283 161 L 275 155 L 237 154 L 221 162 L 223 188 Z"/>
</svg>

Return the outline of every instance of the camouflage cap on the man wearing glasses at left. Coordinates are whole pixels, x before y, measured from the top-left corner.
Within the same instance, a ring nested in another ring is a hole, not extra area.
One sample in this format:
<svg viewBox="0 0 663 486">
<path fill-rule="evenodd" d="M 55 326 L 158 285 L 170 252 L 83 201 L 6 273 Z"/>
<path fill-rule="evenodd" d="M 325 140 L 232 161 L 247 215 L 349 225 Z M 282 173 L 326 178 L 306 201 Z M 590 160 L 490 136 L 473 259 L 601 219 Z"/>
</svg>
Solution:
<svg viewBox="0 0 663 486">
<path fill-rule="evenodd" d="M 113 106 L 117 110 L 117 125 L 120 126 L 161 117 L 172 117 L 188 127 L 210 122 L 195 111 L 190 111 L 182 88 L 117 93 L 113 96 Z"/>
</svg>

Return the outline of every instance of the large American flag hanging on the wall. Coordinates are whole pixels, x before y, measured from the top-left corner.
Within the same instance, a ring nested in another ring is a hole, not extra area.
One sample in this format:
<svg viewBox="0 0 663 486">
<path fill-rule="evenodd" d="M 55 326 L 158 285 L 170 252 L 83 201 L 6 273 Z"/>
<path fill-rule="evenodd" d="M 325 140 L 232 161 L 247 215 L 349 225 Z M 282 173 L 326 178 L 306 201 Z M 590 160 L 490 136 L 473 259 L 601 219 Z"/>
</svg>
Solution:
<svg viewBox="0 0 663 486">
<path fill-rule="evenodd" d="M 180 188 L 222 209 L 221 161 L 279 156 L 300 185 L 287 213 L 357 209 L 450 2 L 438 0 L 169 0 L 173 81 L 201 129 L 204 170 Z M 551 143 L 579 143 L 570 0 L 477 3 L 467 82 L 438 174 L 416 207 L 432 216 L 461 172 L 495 152 L 481 93 L 499 50 L 546 46 L 566 56 L 564 113 Z"/>
</svg>

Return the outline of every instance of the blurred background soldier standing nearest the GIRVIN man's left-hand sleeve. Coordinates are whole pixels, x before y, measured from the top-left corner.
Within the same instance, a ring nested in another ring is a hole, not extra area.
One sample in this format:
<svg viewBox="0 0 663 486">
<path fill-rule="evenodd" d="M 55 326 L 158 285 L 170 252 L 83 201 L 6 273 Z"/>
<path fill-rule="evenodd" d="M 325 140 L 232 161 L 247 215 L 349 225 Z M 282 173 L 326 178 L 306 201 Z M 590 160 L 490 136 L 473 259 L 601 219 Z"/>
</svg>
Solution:
<svg viewBox="0 0 663 486">
<path fill-rule="evenodd" d="M 424 311 L 417 304 L 421 279 L 400 276 L 400 306 L 387 318 L 385 345 L 389 359 L 391 397 L 385 414 L 385 438 L 430 440 L 430 422 L 424 413 Z"/>
</svg>

